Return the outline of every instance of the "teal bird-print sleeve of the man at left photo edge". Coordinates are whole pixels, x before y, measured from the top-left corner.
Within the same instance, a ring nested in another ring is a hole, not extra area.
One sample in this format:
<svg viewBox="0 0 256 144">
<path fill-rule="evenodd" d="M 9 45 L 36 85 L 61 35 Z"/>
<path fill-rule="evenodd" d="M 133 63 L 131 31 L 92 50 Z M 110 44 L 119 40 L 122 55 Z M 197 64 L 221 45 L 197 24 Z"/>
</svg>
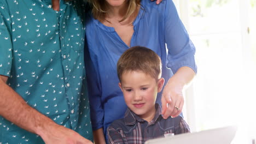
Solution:
<svg viewBox="0 0 256 144">
<path fill-rule="evenodd" d="M 11 18 L 7 4 L 0 2 L 0 75 L 10 76 L 13 57 L 11 40 Z"/>
</svg>

